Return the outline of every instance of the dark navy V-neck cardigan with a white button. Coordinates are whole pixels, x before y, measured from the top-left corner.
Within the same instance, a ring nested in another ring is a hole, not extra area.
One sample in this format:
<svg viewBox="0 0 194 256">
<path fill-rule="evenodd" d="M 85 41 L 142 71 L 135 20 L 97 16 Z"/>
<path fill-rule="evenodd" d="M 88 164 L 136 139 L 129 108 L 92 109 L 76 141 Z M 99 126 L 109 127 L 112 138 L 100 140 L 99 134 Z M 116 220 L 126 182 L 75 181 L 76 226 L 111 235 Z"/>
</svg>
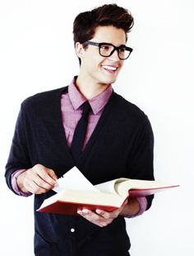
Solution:
<svg viewBox="0 0 194 256">
<path fill-rule="evenodd" d="M 60 99 L 66 91 L 41 92 L 22 102 L 6 166 L 8 187 L 13 172 L 35 164 L 52 168 L 58 178 L 76 165 L 93 184 L 120 177 L 154 179 L 150 121 L 115 92 L 74 163 L 62 125 Z M 35 195 L 35 255 L 127 255 L 130 241 L 122 216 L 100 228 L 81 216 L 37 212 L 53 193 Z M 147 209 L 152 199 L 147 197 Z"/>
</svg>

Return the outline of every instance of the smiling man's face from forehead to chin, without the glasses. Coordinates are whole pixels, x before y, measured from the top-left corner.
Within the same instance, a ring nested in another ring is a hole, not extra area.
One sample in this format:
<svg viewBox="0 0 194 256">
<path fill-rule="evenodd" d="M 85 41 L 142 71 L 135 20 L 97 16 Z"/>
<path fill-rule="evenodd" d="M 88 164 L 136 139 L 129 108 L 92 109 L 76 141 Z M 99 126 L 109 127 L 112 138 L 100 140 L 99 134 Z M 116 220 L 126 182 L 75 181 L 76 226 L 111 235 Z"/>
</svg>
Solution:
<svg viewBox="0 0 194 256">
<path fill-rule="evenodd" d="M 109 43 L 115 46 L 126 44 L 126 35 L 122 29 L 114 26 L 99 26 L 95 36 L 90 41 L 97 43 Z M 113 55 L 103 57 L 99 55 L 99 46 L 88 45 L 81 55 L 81 73 L 86 81 L 107 85 L 114 83 L 122 68 L 123 60 L 118 58 L 118 51 Z"/>
</svg>

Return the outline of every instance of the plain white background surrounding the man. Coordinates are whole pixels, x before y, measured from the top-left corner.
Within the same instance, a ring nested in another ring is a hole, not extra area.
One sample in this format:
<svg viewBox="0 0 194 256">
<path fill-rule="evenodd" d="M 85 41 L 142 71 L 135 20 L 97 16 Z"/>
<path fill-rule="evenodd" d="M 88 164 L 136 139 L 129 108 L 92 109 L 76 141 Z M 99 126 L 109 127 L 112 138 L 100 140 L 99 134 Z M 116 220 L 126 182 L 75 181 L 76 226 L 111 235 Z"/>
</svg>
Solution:
<svg viewBox="0 0 194 256">
<path fill-rule="evenodd" d="M 110 1 L 106 1 L 109 3 Z M 179 183 L 127 220 L 132 256 L 194 255 L 192 0 L 115 1 L 135 18 L 114 90 L 141 107 L 155 133 L 155 178 Z M 78 73 L 72 22 L 104 1 L 0 1 L 0 255 L 33 255 L 33 197 L 8 190 L 4 166 L 21 102 Z M 122 238 L 121 238 L 122 239 Z"/>
</svg>

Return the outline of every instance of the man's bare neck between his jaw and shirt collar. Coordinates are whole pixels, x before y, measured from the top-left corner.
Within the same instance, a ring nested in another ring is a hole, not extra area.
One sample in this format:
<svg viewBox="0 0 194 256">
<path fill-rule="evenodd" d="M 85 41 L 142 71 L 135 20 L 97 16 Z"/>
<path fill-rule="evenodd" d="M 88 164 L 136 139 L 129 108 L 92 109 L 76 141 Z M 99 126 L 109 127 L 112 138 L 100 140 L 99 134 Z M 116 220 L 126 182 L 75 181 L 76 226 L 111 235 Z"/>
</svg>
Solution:
<svg viewBox="0 0 194 256">
<path fill-rule="evenodd" d="M 82 78 L 81 75 L 76 78 L 76 88 L 88 100 L 104 92 L 108 87 L 109 84 L 96 83 L 90 78 Z"/>
</svg>

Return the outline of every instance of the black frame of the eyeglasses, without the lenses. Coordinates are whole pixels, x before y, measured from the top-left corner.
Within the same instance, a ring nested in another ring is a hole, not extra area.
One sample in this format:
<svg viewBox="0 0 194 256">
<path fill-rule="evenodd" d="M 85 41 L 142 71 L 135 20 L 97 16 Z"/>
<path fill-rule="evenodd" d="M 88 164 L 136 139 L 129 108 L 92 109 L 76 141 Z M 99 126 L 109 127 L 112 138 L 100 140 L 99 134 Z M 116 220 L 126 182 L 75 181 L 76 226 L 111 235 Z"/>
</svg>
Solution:
<svg viewBox="0 0 194 256">
<path fill-rule="evenodd" d="M 96 43 L 96 42 L 93 42 L 93 41 L 90 41 L 90 40 L 85 41 L 85 42 L 83 43 L 83 45 L 95 45 L 95 46 L 99 46 L 99 55 L 101 55 L 101 56 L 103 56 L 103 57 L 109 57 L 109 56 L 113 55 L 113 52 L 114 52 L 115 50 L 117 50 L 117 52 L 118 52 L 118 58 L 119 58 L 119 59 L 122 59 L 122 60 L 128 59 L 128 57 L 131 55 L 132 50 L 133 50 L 131 47 L 128 47 L 128 46 L 126 46 L 126 45 L 115 46 L 115 45 L 112 45 L 112 44 L 110 44 L 110 43 L 105 43 L 105 42 L 104 42 L 104 43 Z M 102 55 L 102 54 L 100 53 L 100 47 L 101 47 L 102 45 L 111 45 L 111 46 L 113 46 L 113 50 L 110 52 L 109 55 Z M 121 58 L 121 57 L 119 56 L 119 50 L 121 50 L 121 49 L 123 49 L 123 48 L 129 52 L 129 55 L 127 56 L 127 58 Z"/>
</svg>

